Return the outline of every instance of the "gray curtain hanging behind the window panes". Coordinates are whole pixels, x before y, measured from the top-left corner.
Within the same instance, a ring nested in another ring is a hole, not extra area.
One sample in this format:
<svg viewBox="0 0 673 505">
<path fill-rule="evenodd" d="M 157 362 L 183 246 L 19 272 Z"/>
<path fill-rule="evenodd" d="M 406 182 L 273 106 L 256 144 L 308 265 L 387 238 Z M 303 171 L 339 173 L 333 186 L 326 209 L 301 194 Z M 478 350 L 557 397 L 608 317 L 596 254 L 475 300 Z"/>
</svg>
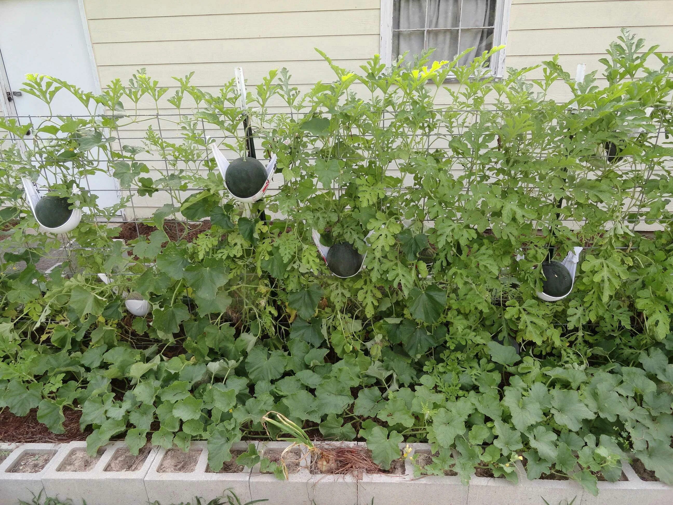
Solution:
<svg viewBox="0 0 673 505">
<path fill-rule="evenodd" d="M 469 63 L 493 46 L 496 0 L 395 0 L 393 30 L 418 30 L 392 34 L 393 58 L 409 51 L 409 59 L 424 48 L 434 47 L 433 60 L 451 60 L 474 47 L 460 64 Z M 427 9 L 427 11 L 426 11 Z M 427 27 L 425 22 L 427 19 Z M 460 26 L 460 44 L 458 27 Z M 427 39 L 425 38 L 425 28 Z M 437 28 L 441 30 L 436 30 Z M 435 29 L 435 30 L 433 30 Z"/>
</svg>

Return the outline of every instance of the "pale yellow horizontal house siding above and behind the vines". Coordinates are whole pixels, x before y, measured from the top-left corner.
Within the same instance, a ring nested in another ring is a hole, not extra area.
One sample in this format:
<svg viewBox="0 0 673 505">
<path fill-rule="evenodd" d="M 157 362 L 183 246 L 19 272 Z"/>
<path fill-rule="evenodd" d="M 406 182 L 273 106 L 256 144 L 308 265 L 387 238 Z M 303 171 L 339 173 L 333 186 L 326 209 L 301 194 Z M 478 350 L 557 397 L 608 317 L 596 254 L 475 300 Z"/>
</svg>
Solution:
<svg viewBox="0 0 673 505">
<path fill-rule="evenodd" d="M 286 67 L 292 85 L 306 92 L 318 81 L 334 79 L 314 48 L 350 69 L 380 48 L 381 0 L 84 0 L 84 7 L 102 86 L 117 77 L 125 82 L 144 67 L 170 88 L 171 77 L 194 71 L 191 83 L 215 93 L 234 77 L 234 67 L 244 67 L 249 86 L 271 69 Z M 598 60 L 622 27 L 645 38 L 645 48 L 660 44 L 660 51 L 673 54 L 673 0 L 511 0 L 505 67 L 536 65 L 559 53 L 571 75 L 578 63 L 586 63 L 586 72 L 598 71 L 598 84 L 604 84 Z M 531 80 L 540 77 L 542 69 L 528 74 Z M 171 95 L 172 90 L 164 95 L 158 111 L 142 98 L 138 112 L 175 112 L 166 102 Z M 548 92 L 555 100 L 568 96 L 563 83 Z M 448 93 L 440 90 L 437 104 L 448 103 Z M 269 112 L 281 110 L 280 99 L 269 104 Z M 132 125 L 122 137 L 137 143 L 145 127 Z M 163 135 L 178 136 L 172 123 L 162 127 Z M 137 217 L 149 215 L 163 203 L 159 195 L 136 198 L 133 211 Z"/>
</svg>

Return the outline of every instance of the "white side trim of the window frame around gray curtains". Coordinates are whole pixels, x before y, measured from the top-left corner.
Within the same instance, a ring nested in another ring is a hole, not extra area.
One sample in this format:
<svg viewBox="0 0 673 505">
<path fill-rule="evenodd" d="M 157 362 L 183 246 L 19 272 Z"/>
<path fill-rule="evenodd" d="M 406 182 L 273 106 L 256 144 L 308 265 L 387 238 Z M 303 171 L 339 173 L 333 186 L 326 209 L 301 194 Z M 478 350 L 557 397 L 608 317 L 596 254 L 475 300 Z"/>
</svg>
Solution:
<svg viewBox="0 0 673 505">
<path fill-rule="evenodd" d="M 394 0 L 381 0 L 381 41 L 380 56 L 386 66 L 392 64 L 392 5 Z M 461 2 L 463 0 L 460 0 Z M 495 5 L 495 28 L 493 28 L 493 47 L 507 44 L 509 28 L 509 10 L 511 0 L 497 0 Z M 459 27 L 460 28 L 460 27 Z M 505 49 L 499 50 L 491 59 L 491 73 L 495 77 L 505 75 Z"/>
</svg>

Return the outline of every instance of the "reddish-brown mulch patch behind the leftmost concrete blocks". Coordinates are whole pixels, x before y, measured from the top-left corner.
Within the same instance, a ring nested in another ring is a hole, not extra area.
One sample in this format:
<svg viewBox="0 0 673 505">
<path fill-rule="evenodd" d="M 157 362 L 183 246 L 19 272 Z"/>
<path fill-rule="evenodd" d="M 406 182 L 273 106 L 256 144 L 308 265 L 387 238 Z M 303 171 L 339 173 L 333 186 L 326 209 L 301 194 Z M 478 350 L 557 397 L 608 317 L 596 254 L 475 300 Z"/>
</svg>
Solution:
<svg viewBox="0 0 673 505">
<path fill-rule="evenodd" d="M 63 409 L 65 421 L 63 428 L 65 433 L 54 434 L 46 425 L 37 419 L 37 409 L 32 409 L 28 415 L 18 417 L 5 408 L 0 413 L 0 442 L 72 442 L 73 440 L 86 440 L 92 430 L 85 432 L 79 430 L 79 417 L 81 412 L 72 409 Z"/>
</svg>

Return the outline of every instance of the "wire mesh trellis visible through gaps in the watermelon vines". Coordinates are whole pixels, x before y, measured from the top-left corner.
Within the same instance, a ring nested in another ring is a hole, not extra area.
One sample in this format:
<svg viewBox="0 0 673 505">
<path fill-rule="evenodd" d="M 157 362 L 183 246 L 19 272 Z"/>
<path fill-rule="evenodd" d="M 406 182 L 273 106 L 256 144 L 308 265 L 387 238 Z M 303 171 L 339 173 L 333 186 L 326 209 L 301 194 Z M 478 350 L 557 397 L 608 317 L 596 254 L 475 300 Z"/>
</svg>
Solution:
<svg viewBox="0 0 673 505">
<path fill-rule="evenodd" d="M 670 107 L 665 107 L 662 109 L 669 110 Z M 444 112 L 452 112 L 452 113 L 458 113 L 458 114 L 472 114 L 474 117 L 474 121 L 476 121 L 476 116 L 478 114 L 499 114 L 499 112 L 503 112 L 505 109 L 499 109 L 496 107 L 486 107 L 485 109 L 476 109 L 476 108 L 433 108 L 431 109 L 432 112 L 437 112 L 439 114 L 444 113 Z M 382 113 L 382 124 L 386 125 L 386 121 L 390 122 L 394 119 L 394 116 L 396 114 L 399 114 L 400 111 L 398 110 L 386 110 Z M 258 120 L 260 121 L 260 124 L 272 124 L 273 123 L 273 116 L 277 114 L 262 114 Z M 100 116 L 87 116 L 87 115 L 73 115 L 73 116 L 67 116 L 69 119 L 83 119 L 87 122 L 94 123 L 102 120 L 109 118 L 109 114 L 101 114 Z M 50 116 L 9 116 L 6 119 L 15 119 L 16 121 L 19 121 L 20 123 L 35 123 L 36 121 L 40 120 L 50 120 L 52 119 Z M 63 119 L 63 118 L 61 118 Z M 200 172 L 207 172 L 211 170 L 211 168 L 208 168 L 205 166 L 205 162 L 208 159 L 208 148 L 207 145 L 207 139 L 213 139 L 213 141 L 217 143 L 232 143 L 236 142 L 237 140 L 240 141 L 240 136 L 237 135 L 232 135 L 232 134 L 227 134 L 227 132 L 223 132 L 220 129 L 218 129 L 215 125 L 211 125 L 211 127 L 207 127 L 205 121 L 203 118 L 198 118 L 197 116 L 194 116 L 194 114 L 178 114 L 178 113 L 167 113 L 167 114 L 135 114 L 133 116 L 133 123 L 130 123 L 132 126 L 135 125 L 152 125 L 153 128 L 156 128 L 156 131 L 158 133 L 158 138 L 164 142 L 164 141 L 171 141 L 176 143 L 176 145 L 179 147 L 180 145 L 180 140 L 184 140 L 184 137 L 181 137 L 181 132 L 180 132 L 180 127 L 181 125 L 184 125 L 185 123 L 188 122 L 194 122 L 197 125 L 200 123 L 200 128 L 199 128 L 199 136 L 201 140 L 203 141 L 204 145 L 197 145 L 197 148 L 194 151 L 194 159 L 193 160 L 182 160 L 180 159 L 180 153 L 177 152 L 176 148 L 174 147 L 164 147 L 162 144 L 162 147 L 156 148 L 153 151 L 149 151 L 149 149 L 145 150 L 146 154 L 149 154 L 151 156 L 143 156 L 143 157 L 138 157 L 134 156 L 133 157 L 133 162 L 139 162 L 143 164 L 147 164 L 149 170 L 153 170 L 159 174 L 162 174 L 162 176 L 169 178 L 172 174 L 176 174 L 180 172 L 180 170 L 186 170 L 186 167 L 191 163 L 194 164 L 195 167 L 195 172 L 200 173 Z M 114 145 L 118 146 L 118 152 L 122 152 L 125 149 L 125 145 L 127 143 L 131 143 L 132 145 L 139 145 L 146 143 L 145 147 L 147 147 L 147 127 L 142 130 L 129 130 L 125 129 L 123 125 L 119 125 L 118 121 L 114 122 L 114 127 L 110 129 L 110 133 L 114 133 Z M 462 126 L 464 126 L 467 123 L 463 123 Z M 162 126 L 163 125 L 163 126 Z M 128 126 L 128 125 L 127 125 Z M 170 126 L 171 128 L 167 128 Z M 458 128 L 458 127 L 456 127 Z M 653 147 L 658 147 L 660 146 L 660 142 L 662 141 L 662 123 L 659 123 L 656 125 L 656 133 L 647 133 L 648 140 L 652 141 Z M 131 132 L 141 132 L 142 135 L 135 135 L 131 134 Z M 428 133 L 417 133 L 416 137 L 421 139 L 420 144 L 423 145 L 423 150 L 425 151 L 426 155 L 429 155 L 432 153 L 432 156 L 435 160 L 438 162 L 441 161 L 447 161 L 450 160 L 452 163 L 452 166 L 450 167 L 450 172 L 452 172 L 455 175 L 460 175 L 460 174 L 466 174 L 466 168 L 470 166 L 470 164 L 474 165 L 474 153 L 470 155 L 465 155 L 461 156 L 460 154 L 456 154 L 453 152 L 450 147 L 449 143 L 452 139 L 462 137 L 464 135 L 464 131 L 460 131 L 460 129 L 454 129 L 454 131 L 451 131 L 450 129 L 446 128 L 444 131 L 441 131 L 441 128 L 437 128 L 436 131 L 428 132 Z M 531 134 L 532 135 L 532 134 Z M 373 137 L 372 134 L 363 134 L 361 135 L 363 139 L 371 139 Z M 25 140 L 25 139 L 24 139 Z M 44 139 L 44 141 L 53 141 L 51 137 L 48 137 Z M 5 145 L 7 145 L 7 142 L 14 142 L 18 143 L 22 141 L 22 139 L 18 138 L 16 135 L 10 134 L 6 139 L 5 139 Z M 38 139 L 36 140 L 35 135 L 32 137 L 28 138 L 28 143 L 31 142 L 39 142 L 39 135 Z M 548 146 L 547 146 L 548 147 Z M 495 149 L 495 145 L 493 145 L 493 148 Z M 357 150 L 357 149 L 356 149 Z M 5 156 L 3 156 L 2 150 L 0 150 L 0 162 L 7 162 L 11 163 L 12 160 L 8 160 Z M 100 149 L 99 149 L 99 156 L 93 156 L 90 158 L 87 158 L 87 162 L 91 164 L 95 164 L 96 166 L 103 167 L 101 169 L 102 172 L 107 172 L 110 174 L 110 167 L 109 164 L 110 162 L 114 160 L 110 160 L 109 157 L 101 157 L 100 156 Z M 420 151 L 418 154 L 423 154 L 423 151 Z M 548 156 L 548 153 L 544 151 L 544 146 L 540 146 L 538 151 L 530 151 L 531 156 L 537 156 L 539 159 L 544 158 L 545 156 Z M 369 160 L 366 160 L 365 158 L 362 158 L 361 156 L 343 156 L 339 153 L 339 145 L 336 145 L 336 151 L 334 152 L 334 158 L 343 160 L 345 162 L 351 162 L 351 163 L 357 163 L 357 162 L 368 162 Z M 621 158 L 624 160 L 620 164 L 617 164 L 613 170 L 619 171 L 623 170 L 624 172 L 628 173 L 629 170 L 634 170 L 634 164 L 635 164 L 635 159 L 636 157 L 632 154 L 625 154 L 624 156 L 621 156 Z M 305 160 L 306 162 L 312 163 L 315 162 L 317 159 L 316 156 L 306 156 Z M 594 155 L 589 155 L 589 156 L 582 156 L 582 163 L 583 166 L 587 168 L 587 174 L 590 174 L 592 170 L 598 170 L 595 168 L 592 168 L 591 163 L 592 162 L 598 162 L 598 163 L 604 163 L 606 160 L 606 155 L 596 152 Z M 49 160 L 40 160 L 36 161 L 34 160 L 34 164 L 38 163 L 42 164 L 49 164 Z M 647 168 L 647 173 L 645 175 L 645 178 L 641 184 L 634 184 L 634 188 L 642 188 L 647 184 L 647 181 L 653 176 L 653 174 L 656 173 L 656 167 L 660 167 L 660 171 L 664 170 L 663 167 L 668 167 L 670 166 L 670 159 L 661 159 L 658 160 L 657 163 L 652 163 L 651 166 Z M 397 170 L 396 170 L 397 168 Z M 40 168 L 41 170 L 41 168 Z M 343 175 L 343 172 L 341 171 L 342 169 L 340 168 L 340 173 L 339 176 Z M 399 170 L 399 166 L 388 166 L 385 168 L 385 170 L 382 171 L 382 175 L 385 176 L 386 174 L 396 174 L 398 176 L 402 176 L 402 172 Z M 276 174 L 274 177 L 275 181 L 272 187 L 269 189 L 269 197 L 273 198 L 274 195 L 277 195 L 280 191 L 282 191 L 283 188 L 283 177 L 281 174 Z M 130 225 L 135 228 L 135 232 L 137 236 L 141 235 L 141 230 L 139 229 L 139 224 L 142 224 L 143 222 L 147 222 L 149 217 L 151 217 L 151 211 L 153 209 L 156 209 L 158 207 L 162 206 L 162 202 L 158 202 L 156 205 L 151 205 L 151 202 L 147 202 L 147 195 L 144 195 L 143 197 L 139 197 L 139 193 L 145 191 L 147 193 L 146 189 L 140 188 L 140 187 L 92 187 L 92 184 L 90 184 L 90 180 L 88 178 L 84 178 L 85 184 L 87 184 L 87 189 L 91 191 L 92 193 L 116 193 L 118 197 L 125 196 L 128 199 L 128 204 L 126 205 L 126 208 L 123 209 L 123 211 L 120 213 L 118 216 L 113 216 L 113 217 L 108 217 L 107 219 L 102 219 L 100 216 L 97 217 L 99 221 L 102 222 L 109 222 L 110 224 L 114 224 L 116 226 L 125 226 L 125 225 Z M 487 182 L 493 183 L 497 182 L 499 180 L 499 176 L 497 174 L 489 174 L 489 178 Z M 110 178 L 110 182 L 112 182 L 112 178 Z M 470 181 L 468 180 L 465 183 L 465 187 L 462 189 L 464 193 L 468 193 L 470 191 L 469 187 Z M 47 184 L 48 186 L 48 184 Z M 166 197 L 168 197 L 168 202 L 172 207 L 178 208 L 176 203 L 180 203 L 177 201 L 176 196 L 177 195 L 188 195 L 188 194 L 193 194 L 196 192 L 203 191 L 205 188 L 204 187 L 180 187 L 177 191 L 175 189 L 171 188 L 162 188 L 162 187 L 153 187 L 151 189 L 152 195 L 149 196 L 149 199 L 153 199 L 155 194 L 162 195 L 166 194 Z M 325 192 L 325 191 L 334 191 L 335 197 L 338 199 L 341 195 L 345 193 L 345 190 L 347 189 L 347 185 L 339 185 L 339 184 L 332 184 L 331 187 L 326 188 L 322 187 L 319 189 L 316 189 L 316 192 Z M 413 178 L 409 180 L 409 174 L 407 173 L 404 176 L 404 180 L 402 180 L 402 184 L 400 187 L 386 187 L 384 191 L 388 194 L 393 194 L 397 193 L 398 195 L 402 195 L 404 192 L 409 192 L 409 191 L 415 191 L 421 189 L 417 184 L 415 184 Z M 539 196 L 539 195 L 538 195 Z M 162 198 L 162 201 L 166 199 L 166 197 Z M 434 220 L 429 219 L 428 217 L 428 211 L 426 207 L 426 199 L 421 199 L 420 201 L 421 207 L 422 207 L 422 214 L 423 214 L 423 220 L 421 220 L 421 224 L 423 226 L 423 229 L 427 228 L 428 226 L 433 226 Z M 548 199 L 547 203 L 551 203 L 551 199 Z M 629 224 L 666 224 L 670 222 L 670 217 L 647 217 L 647 215 L 643 215 L 644 211 L 643 209 L 639 209 L 639 212 L 635 212 L 637 215 L 633 215 L 634 213 L 631 213 L 629 216 L 625 216 L 623 218 L 623 222 L 629 223 Z M 282 216 L 282 215 L 275 215 L 276 218 L 284 218 L 287 216 Z M 180 230 L 178 229 L 181 222 L 187 226 L 190 224 L 196 224 L 199 223 L 200 221 L 194 221 L 194 220 L 188 220 L 184 217 L 176 219 L 174 223 L 172 223 L 176 227 L 176 233 L 179 234 Z M 572 219 L 567 219 L 563 220 L 565 224 L 571 224 L 574 226 L 581 226 L 581 220 L 575 221 Z M 549 226 L 550 222 L 546 222 L 544 220 L 538 220 L 536 221 L 536 228 L 544 228 L 545 226 Z M 74 249 L 84 249 L 82 246 L 74 242 L 73 240 L 65 240 L 63 242 L 63 248 L 66 250 L 74 250 Z M 128 249 L 129 247 L 126 246 Z M 91 248 L 90 248 L 91 249 Z M 101 248 L 104 249 L 104 248 Z"/>
</svg>

